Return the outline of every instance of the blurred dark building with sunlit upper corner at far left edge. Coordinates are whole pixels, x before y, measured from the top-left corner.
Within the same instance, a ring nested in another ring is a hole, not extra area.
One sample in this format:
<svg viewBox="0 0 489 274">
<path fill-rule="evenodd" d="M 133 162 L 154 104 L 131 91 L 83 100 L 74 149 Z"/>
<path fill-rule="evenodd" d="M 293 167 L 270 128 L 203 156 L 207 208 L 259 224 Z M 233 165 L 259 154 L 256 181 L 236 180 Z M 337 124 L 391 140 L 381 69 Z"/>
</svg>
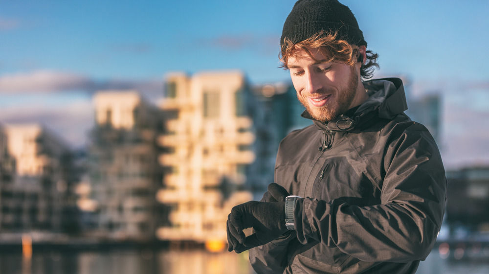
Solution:
<svg viewBox="0 0 489 274">
<path fill-rule="evenodd" d="M 0 230 L 77 232 L 76 178 L 66 143 L 38 124 L 7 125 L 4 131 Z M 4 152 L 4 137 L 15 170 Z"/>
</svg>

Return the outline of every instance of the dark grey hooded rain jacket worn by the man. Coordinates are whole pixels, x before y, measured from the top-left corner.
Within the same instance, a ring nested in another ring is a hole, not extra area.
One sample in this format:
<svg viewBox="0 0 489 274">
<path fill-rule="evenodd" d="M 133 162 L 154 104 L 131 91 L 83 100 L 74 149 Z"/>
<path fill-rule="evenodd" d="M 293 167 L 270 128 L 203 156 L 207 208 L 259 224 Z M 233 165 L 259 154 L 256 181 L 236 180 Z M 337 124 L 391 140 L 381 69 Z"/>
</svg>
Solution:
<svg viewBox="0 0 489 274">
<path fill-rule="evenodd" d="M 364 86 L 369 98 L 352 117 L 282 140 L 275 182 L 306 198 L 295 231 L 249 251 L 258 274 L 415 273 L 431 251 L 445 206 L 438 148 L 403 113 L 400 79 Z"/>
</svg>

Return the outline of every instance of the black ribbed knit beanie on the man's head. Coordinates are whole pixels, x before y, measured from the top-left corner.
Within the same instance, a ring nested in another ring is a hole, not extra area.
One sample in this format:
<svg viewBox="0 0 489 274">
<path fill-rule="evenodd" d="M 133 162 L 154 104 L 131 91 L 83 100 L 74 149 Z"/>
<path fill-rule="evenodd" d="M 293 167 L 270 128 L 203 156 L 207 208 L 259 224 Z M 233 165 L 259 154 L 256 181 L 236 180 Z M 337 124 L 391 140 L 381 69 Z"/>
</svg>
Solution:
<svg viewBox="0 0 489 274">
<path fill-rule="evenodd" d="M 298 0 L 285 20 L 280 46 L 289 38 L 302 42 L 319 31 L 338 32 L 338 38 L 350 45 L 367 46 L 355 15 L 337 0 Z"/>
</svg>

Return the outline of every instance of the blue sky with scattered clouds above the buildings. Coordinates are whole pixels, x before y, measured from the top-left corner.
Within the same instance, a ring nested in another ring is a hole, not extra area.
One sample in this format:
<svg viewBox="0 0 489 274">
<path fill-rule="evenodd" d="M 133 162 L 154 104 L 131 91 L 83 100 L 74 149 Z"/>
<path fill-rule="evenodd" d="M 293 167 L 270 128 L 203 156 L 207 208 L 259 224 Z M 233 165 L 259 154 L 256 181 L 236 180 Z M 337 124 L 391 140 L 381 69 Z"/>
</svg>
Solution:
<svg viewBox="0 0 489 274">
<path fill-rule="evenodd" d="M 277 56 L 294 2 L 1 0 L 0 122 L 42 122 L 78 146 L 97 90 L 156 98 L 170 71 L 289 81 Z M 489 1 L 342 3 L 380 55 L 377 77 L 403 75 L 412 94 L 443 95 L 445 162 L 489 163 Z"/>
</svg>

